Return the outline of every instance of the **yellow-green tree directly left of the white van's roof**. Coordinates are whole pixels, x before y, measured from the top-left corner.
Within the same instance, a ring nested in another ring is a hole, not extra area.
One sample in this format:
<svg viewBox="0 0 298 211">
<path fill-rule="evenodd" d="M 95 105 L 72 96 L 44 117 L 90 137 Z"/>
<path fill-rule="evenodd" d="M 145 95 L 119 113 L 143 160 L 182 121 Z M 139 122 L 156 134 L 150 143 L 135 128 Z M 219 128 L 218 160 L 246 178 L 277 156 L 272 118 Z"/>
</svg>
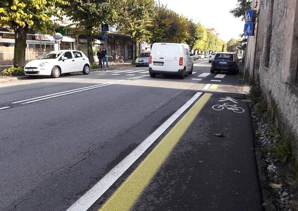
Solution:
<svg viewBox="0 0 298 211">
<path fill-rule="evenodd" d="M 118 18 L 119 28 L 131 36 L 136 43 L 135 55 L 138 53 L 140 42 L 150 41 L 153 24 L 154 0 L 122 0 L 121 16 Z"/>
</svg>

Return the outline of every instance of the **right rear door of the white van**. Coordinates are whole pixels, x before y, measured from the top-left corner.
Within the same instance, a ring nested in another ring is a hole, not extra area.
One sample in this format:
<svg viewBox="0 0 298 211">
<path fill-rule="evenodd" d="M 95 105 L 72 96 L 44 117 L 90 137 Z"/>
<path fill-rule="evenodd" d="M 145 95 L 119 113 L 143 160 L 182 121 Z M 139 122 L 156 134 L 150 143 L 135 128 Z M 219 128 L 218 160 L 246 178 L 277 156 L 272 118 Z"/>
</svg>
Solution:
<svg viewBox="0 0 298 211">
<path fill-rule="evenodd" d="M 178 72 L 180 54 L 180 48 L 178 45 L 167 44 L 165 71 Z"/>
</svg>

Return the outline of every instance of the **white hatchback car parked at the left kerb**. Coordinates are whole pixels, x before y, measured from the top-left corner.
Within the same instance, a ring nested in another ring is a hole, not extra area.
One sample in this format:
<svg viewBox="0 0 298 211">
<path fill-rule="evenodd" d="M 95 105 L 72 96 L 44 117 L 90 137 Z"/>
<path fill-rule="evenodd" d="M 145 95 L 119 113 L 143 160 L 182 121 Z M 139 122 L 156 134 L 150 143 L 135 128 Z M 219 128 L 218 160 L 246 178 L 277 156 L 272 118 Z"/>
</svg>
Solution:
<svg viewBox="0 0 298 211">
<path fill-rule="evenodd" d="M 79 71 L 89 74 L 90 63 L 85 54 L 78 50 L 50 51 L 24 67 L 25 75 L 51 75 L 54 78 L 63 73 Z"/>
</svg>

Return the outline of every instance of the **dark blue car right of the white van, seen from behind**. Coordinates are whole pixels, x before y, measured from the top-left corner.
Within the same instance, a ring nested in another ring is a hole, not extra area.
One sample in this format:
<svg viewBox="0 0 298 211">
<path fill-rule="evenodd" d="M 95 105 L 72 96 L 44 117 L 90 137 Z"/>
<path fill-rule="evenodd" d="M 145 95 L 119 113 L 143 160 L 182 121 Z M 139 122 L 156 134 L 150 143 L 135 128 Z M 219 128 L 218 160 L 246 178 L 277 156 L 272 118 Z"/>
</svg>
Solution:
<svg viewBox="0 0 298 211">
<path fill-rule="evenodd" d="M 233 74 L 239 72 L 239 60 L 235 53 L 217 53 L 211 64 L 211 73 L 216 70 L 229 71 Z"/>
</svg>

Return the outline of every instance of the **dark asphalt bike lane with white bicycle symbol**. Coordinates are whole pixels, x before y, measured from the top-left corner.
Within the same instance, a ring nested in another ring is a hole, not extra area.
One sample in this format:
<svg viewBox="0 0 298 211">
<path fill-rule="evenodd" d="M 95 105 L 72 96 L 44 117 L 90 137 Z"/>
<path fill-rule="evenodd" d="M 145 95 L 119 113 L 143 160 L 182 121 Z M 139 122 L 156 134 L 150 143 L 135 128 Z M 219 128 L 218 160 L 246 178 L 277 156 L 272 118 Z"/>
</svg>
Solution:
<svg viewBox="0 0 298 211">
<path fill-rule="evenodd" d="M 261 211 L 245 99 L 244 94 L 213 93 L 128 210 Z M 135 195 L 133 186 L 130 192 Z M 127 210 L 121 199 L 115 201 L 113 208 Z"/>
</svg>

